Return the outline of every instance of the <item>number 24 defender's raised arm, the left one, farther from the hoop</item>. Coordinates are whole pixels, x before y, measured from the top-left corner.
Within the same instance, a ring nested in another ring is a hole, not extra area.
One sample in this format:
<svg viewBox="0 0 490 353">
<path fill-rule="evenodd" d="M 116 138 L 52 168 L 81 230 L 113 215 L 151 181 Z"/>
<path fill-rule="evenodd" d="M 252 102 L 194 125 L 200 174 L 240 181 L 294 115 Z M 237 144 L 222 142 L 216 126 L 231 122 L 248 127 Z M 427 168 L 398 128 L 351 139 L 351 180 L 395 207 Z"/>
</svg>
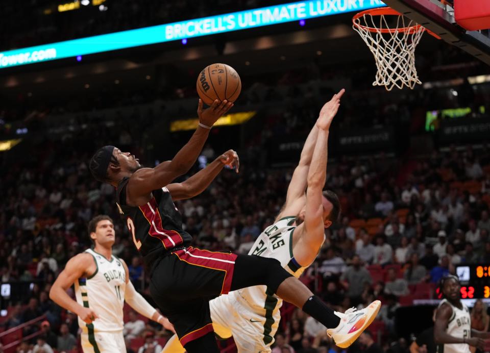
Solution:
<svg viewBox="0 0 490 353">
<path fill-rule="evenodd" d="M 340 99 L 344 92 L 345 90 L 341 89 L 338 93 L 333 95 L 330 102 Z M 330 102 L 325 104 L 322 111 Z M 322 113 L 322 111 L 320 113 Z M 308 171 L 310 168 L 311 159 L 313 158 L 313 150 L 315 148 L 317 136 L 318 127 L 315 123 L 308 137 L 306 138 L 303 150 L 301 151 L 300 162 L 295 168 L 287 188 L 286 203 L 284 204 L 279 215 L 276 217 L 276 222 L 285 216 L 297 215 L 305 205 L 305 191 L 307 186 Z"/>
</svg>

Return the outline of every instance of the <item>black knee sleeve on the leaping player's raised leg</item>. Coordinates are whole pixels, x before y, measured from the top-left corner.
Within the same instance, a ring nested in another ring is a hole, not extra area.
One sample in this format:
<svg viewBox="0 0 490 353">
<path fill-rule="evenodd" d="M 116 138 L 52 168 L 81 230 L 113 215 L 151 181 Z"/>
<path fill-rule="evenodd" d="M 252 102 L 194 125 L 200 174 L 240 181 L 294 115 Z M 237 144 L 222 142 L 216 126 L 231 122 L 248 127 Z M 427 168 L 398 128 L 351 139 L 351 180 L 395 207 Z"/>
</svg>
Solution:
<svg viewBox="0 0 490 353">
<path fill-rule="evenodd" d="M 291 277 L 276 259 L 256 255 L 238 255 L 233 269 L 231 290 L 265 285 L 276 293 L 279 285 Z"/>
</svg>

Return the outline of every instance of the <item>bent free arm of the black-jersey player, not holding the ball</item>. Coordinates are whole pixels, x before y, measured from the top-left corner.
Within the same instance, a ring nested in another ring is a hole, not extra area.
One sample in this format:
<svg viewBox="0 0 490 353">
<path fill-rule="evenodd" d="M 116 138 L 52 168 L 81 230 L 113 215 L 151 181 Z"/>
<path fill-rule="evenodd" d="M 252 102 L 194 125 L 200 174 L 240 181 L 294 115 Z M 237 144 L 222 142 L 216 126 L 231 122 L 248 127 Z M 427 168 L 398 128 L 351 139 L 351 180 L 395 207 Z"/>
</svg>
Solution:
<svg viewBox="0 0 490 353">
<path fill-rule="evenodd" d="M 228 150 L 223 155 L 216 158 L 213 162 L 200 170 L 182 183 L 173 183 L 167 185 L 173 200 L 183 200 L 199 195 L 207 189 L 209 184 L 216 178 L 223 167 L 227 165 L 234 168 L 238 173 L 240 160 L 233 149 Z"/>
</svg>

